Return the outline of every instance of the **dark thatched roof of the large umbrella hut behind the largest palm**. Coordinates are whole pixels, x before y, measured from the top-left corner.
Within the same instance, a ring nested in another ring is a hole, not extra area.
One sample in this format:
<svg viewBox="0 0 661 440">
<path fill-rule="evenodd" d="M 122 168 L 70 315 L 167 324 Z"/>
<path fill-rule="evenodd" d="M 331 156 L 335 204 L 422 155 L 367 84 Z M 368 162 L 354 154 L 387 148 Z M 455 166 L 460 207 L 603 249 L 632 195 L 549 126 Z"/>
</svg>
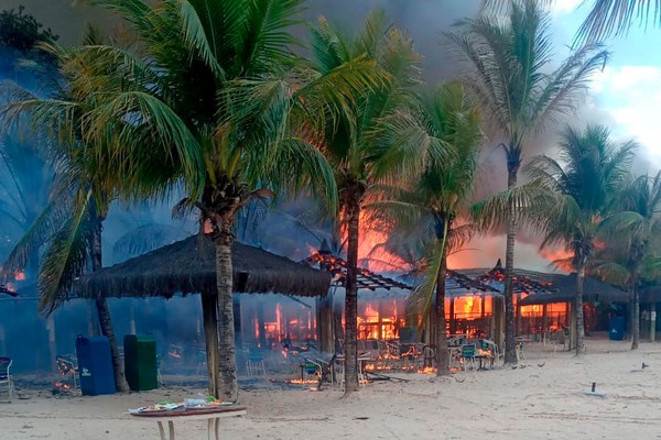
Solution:
<svg viewBox="0 0 661 440">
<path fill-rule="evenodd" d="M 201 235 L 166 245 L 83 277 L 82 298 L 172 297 L 216 292 L 215 246 Z M 323 296 L 330 275 L 264 250 L 235 243 L 231 249 L 234 290 Z"/>
</svg>

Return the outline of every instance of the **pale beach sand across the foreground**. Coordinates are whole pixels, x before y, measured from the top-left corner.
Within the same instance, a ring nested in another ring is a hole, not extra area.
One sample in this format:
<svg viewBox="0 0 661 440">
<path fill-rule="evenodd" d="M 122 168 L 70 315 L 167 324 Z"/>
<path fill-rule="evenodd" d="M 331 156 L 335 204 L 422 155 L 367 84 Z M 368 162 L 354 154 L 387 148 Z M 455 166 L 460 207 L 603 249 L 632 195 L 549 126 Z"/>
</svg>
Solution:
<svg viewBox="0 0 661 440">
<path fill-rule="evenodd" d="M 411 382 L 372 383 L 349 398 L 333 389 L 242 392 L 248 416 L 224 419 L 223 438 L 659 439 L 661 343 L 642 343 L 638 352 L 628 348 L 628 342 L 588 341 L 589 354 L 581 359 L 531 348 L 522 370 L 462 372 L 444 380 L 400 374 Z M 650 366 L 640 371 L 643 362 Z M 604 398 L 584 394 L 593 382 Z M 123 413 L 197 392 L 170 387 L 56 399 L 24 391 L 28 399 L 0 405 L 0 439 L 159 439 L 153 421 Z M 206 439 L 204 421 L 177 422 L 176 431 L 178 439 Z"/>
</svg>

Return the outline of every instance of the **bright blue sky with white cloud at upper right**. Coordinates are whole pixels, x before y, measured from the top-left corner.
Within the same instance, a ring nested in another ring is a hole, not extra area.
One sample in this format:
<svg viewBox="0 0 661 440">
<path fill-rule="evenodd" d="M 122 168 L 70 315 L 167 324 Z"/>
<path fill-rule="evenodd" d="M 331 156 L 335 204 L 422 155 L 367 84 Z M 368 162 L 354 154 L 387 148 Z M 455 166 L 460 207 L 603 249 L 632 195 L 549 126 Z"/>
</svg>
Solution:
<svg viewBox="0 0 661 440">
<path fill-rule="evenodd" d="M 556 0 L 553 26 L 557 38 L 571 42 L 588 12 L 583 0 Z M 661 168 L 661 30 L 632 26 L 628 35 L 606 42 L 613 52 L 604 72 L 595 75 L 590 96 L 581 109 L 590 122 L 603 122 L 618 140 L 640 144 L 639 172 Z"/>
</svg>

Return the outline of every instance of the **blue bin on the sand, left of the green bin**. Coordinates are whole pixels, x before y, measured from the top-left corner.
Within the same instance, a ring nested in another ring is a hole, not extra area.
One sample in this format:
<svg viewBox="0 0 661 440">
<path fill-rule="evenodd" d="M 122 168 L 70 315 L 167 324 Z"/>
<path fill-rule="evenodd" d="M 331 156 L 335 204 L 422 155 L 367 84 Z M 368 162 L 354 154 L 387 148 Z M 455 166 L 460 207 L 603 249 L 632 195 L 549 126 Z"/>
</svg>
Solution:
<svg viewBox="0 0 661 440">
<path fill-rule="evenodd" d="M 108 338 L 78 336 L 76 354 L 83 395 L 115 394 L 115 372 Z"/>
</svg>

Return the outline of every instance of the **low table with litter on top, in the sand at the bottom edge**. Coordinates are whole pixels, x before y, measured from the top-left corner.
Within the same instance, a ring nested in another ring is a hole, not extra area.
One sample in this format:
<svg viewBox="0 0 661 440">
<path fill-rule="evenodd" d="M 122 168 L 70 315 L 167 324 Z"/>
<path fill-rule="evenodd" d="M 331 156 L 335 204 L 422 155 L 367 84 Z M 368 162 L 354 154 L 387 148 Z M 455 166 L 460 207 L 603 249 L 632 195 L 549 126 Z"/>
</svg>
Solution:
<svg viewBox="0 0 661 440">
<path fill-rule="evenodd" d="M 176 408 L 169 411 L 154 411 L 154 413 L 137 413 L 131 416 L 155 421 L 159 425 L 159 432 L 161 433 L 161 440 L 174 440 L 174 421 L 175 420 L 207 420 L 207 439 L 212 439 L 212 432 L 215 435 L 215 439 L 219 440 L 220 437 L 220 419 L 224 417 L 237 417 L 245 416 L 246 407 L 243 406 L 221 406 L 216 408 Z M 163 424 L 167 422 L 169 436 L 165 437 L 165 429 Z M 188 438 L 188 437 L 186 437 Z"/>
</svg>

